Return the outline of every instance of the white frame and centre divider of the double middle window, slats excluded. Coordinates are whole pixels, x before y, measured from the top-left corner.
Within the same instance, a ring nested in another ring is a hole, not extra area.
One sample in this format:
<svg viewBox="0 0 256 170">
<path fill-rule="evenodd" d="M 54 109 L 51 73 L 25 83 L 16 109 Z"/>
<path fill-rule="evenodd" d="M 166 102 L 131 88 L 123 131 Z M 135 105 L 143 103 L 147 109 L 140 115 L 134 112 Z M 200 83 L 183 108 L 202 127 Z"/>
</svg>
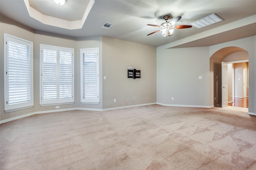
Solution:
<svg viewBox="0 0 256 170">
<path fill-rule="evenodd" d="M 43 100 L 43 49 L 57 49 L 57 59 L 56 59 L 56 67 L 57 67 L 57 99 L 56 100 Z M 60 99 L 60 50 L 62 52 L 72 51 L 72 99 Z M 41 106 L 52 106 L 52 105 L 68 105 L 74 104 L 74 48 L 68 47 L 60 47 L 55 45 L 46 45 L 40 44 L 40 105 Z"/>
</svg>

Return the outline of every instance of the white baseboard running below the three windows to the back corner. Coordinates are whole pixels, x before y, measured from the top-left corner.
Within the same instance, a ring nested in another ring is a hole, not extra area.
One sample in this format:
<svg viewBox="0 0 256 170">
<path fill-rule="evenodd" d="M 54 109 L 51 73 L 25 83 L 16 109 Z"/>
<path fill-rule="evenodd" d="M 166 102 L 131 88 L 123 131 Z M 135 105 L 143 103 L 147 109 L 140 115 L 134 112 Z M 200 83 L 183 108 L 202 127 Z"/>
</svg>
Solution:
<svg viewBox="0 0 256 170">
<path fill-rule="evenodd" d="M 138 107 L 138 106 L 146 106 L 146 105 L 154 105 L 156 103 L 146 103 L 146 104 L 141 104 L 141 105 L 130 105 L 130 106 L 123 106 L 123 107 L 113 107 L 113 108 L 108 108 L 108 109 L 92 109 L 92 108 L 68 108 L 68 109 L 56 109 L 56 110 L 49 110 L 49 111 L 38 111 L 38 112 L 33 112 L 33 113 L 28 113 L 25 115 L 20 115 L 16 117 L 12 117 L 10 119 L 4 119 L 0 121 L 0 124 L 14 121 L 17 119 L 21 119 L 24 117 L 36 115 L 36 114 L 44 114 L 44 113 L 54 113 L 54 112 L 62 112 L 62 111 L 73 111 L 73 110 L 82 110 L 82 111 L 110 111 L 110 110 L 115 110 L 115 109 L 124 109 L 124 108 L 129 108 L 129 107 Z"/>
</svg>

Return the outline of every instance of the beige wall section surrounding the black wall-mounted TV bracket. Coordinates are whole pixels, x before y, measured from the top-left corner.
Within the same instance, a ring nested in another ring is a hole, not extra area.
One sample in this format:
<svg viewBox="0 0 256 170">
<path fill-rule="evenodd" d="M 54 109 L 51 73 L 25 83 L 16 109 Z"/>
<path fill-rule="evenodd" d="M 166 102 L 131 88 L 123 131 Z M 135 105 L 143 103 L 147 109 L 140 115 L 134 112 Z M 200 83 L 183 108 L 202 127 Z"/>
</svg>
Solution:
<svg viewBox="0 0 256 170">
<path fill-rule="evenodd" d="M 156 103 L 156 48 L 109 37 L 102 48 L 103 109 Z M 141 78 L 127 78 L 128 67 L 140 70 Z"/>
</svg>

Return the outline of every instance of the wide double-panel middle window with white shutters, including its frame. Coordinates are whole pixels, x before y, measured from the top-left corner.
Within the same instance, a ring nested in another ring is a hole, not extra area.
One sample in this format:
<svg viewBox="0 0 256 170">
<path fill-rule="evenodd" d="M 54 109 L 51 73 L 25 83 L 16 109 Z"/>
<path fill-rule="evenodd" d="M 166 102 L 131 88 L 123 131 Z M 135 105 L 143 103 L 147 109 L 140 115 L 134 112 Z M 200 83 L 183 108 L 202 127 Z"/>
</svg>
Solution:
<svg viewBox="0 0 256 170">
<path fill-rule="evenodd" d="M 40 105 L 74 103 L 74 49 L 40 44 Z"/>
</svg>

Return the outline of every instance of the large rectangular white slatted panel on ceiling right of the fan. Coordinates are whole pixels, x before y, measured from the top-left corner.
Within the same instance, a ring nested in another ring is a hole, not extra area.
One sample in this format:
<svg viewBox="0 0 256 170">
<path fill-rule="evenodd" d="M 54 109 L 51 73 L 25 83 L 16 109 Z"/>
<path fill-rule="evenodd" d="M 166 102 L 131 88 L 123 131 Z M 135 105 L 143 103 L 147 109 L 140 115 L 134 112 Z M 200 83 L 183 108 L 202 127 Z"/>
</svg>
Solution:
<svg viewBox="0 0 256 170">
<path fill-rule="evenodd" d="M 200 20 L 192 22 L 190 25 L 192 25 L 196 28 L 203 28 L 203 27 L 210 26 L 210 25 L 215 24 L 220 21 L 223 21 L 223 20 L 219 16 L 217 16 L 216 14 L 211 14 L 211 15 L 206 16 Z"/>
</svg>

